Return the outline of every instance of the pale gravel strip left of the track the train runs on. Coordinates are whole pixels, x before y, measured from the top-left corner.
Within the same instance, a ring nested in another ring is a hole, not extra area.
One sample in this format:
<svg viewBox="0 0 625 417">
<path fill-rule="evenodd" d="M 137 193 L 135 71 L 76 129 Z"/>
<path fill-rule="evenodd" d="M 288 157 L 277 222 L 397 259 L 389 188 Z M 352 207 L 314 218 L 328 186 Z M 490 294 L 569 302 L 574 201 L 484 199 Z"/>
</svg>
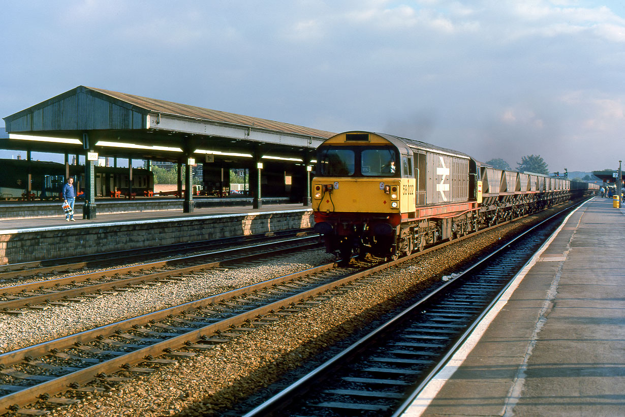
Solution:
<svg viewBox="0 0 625 417">
<path fill-rule="evenodd" d="M 264 281 L 331 262 L 322 249 L 306 251 L 251 268 L 211 269 L 197 272 L 184 281 L 106 295 L 93 301 L 53 307 L 45 311 L 24 310 L 24 314 L 0 315 L 0 353 L 78 333 L 104 324 L 168 308 L 231 289 Z"/>
</svg>

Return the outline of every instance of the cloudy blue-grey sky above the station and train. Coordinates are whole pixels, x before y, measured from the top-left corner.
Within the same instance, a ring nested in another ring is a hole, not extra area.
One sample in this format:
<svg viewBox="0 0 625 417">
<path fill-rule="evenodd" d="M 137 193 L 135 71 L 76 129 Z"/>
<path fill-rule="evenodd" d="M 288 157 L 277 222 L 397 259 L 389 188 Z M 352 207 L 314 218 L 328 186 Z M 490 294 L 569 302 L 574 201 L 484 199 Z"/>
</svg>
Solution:
<svg viewBox="0 0 625 417">
<path fill-rule="evenodd" d="M 0 0 L 0 16 L 0 118 L 84 85 L 512 168 L 625 159 L 621 0 Z"/>
</svg>

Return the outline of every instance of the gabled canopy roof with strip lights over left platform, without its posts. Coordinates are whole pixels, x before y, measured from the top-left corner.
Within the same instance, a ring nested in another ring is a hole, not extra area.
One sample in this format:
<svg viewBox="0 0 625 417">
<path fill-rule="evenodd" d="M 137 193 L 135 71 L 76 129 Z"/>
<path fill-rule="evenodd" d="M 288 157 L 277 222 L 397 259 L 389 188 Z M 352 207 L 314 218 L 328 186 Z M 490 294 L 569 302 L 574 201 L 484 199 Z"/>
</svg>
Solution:
<svg viewBox="0 0 625 417">
<path fill-rule="evenodd" d="M 0 148 L 198 162 L 257 156 L 301 161 L 334 133 L 79 86 L 4 118 Z"/>
</svg>

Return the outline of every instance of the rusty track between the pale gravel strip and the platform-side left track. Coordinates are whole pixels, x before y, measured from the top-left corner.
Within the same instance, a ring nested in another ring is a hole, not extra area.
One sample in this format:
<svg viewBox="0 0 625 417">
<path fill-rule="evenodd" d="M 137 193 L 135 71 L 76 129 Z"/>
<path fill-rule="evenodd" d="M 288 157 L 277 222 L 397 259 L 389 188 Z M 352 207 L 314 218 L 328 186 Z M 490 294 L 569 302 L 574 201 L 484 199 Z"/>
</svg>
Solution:
<svg viewBox="0 0 625 417">
<path fill-rule="evenodd" d="M 20 308 L 46 309 L 54 305 L 79 303 L 86 298 L 99 298 L 107 291 L 127 291 L 136 286 L 156 286 L 184 279 L 182 278 L 184 274 L 196 271 L 317 246 L 319 245 L 316 236 L 291 238 L 272 243 L 252 244 L 246 248 L 224 249 L 124 268 L 5 286 L 0 288 L 0 313 L 20 314 L 22 313 Z"/>
</svg>

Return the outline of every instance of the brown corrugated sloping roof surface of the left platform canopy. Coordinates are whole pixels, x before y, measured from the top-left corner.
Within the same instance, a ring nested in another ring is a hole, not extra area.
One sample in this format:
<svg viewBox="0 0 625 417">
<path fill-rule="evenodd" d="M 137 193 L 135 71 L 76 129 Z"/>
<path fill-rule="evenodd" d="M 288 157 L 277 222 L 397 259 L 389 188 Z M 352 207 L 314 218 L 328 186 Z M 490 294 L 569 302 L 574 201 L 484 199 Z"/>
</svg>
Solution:
<svg viewBox="0 0 625 417">
<path fill-rule="evenodd" d="M 217 111 L 189 104 L 174 103 L 172 101 L 158 100 L 135 96 L 133 94 L 119 93 L 117 91 L 109 91 L 100 88 L 85 87 L 97 91 L 106 96 L 132 104 L 138 108 L 148 112 L 171 114 L 183 118 L 201 119 L 204 121 L 214 121 L 217 123 L 230 123 L 239 126 L 250 126 L 257 129 L 268 129 L 271 131 L 279 131 L 284 133 L 301 134 L 304 136 L 313 136 L 317 138 L 327 139 L 334 136 L 334 133 L 322 131 L 319 129 L 305 128 L 296 124 L 282 123 L 267 119 L 253 118 L 251 116 L 243 116 L 241 114 L 226 113 L 225 111 Z"/>
</svg>

